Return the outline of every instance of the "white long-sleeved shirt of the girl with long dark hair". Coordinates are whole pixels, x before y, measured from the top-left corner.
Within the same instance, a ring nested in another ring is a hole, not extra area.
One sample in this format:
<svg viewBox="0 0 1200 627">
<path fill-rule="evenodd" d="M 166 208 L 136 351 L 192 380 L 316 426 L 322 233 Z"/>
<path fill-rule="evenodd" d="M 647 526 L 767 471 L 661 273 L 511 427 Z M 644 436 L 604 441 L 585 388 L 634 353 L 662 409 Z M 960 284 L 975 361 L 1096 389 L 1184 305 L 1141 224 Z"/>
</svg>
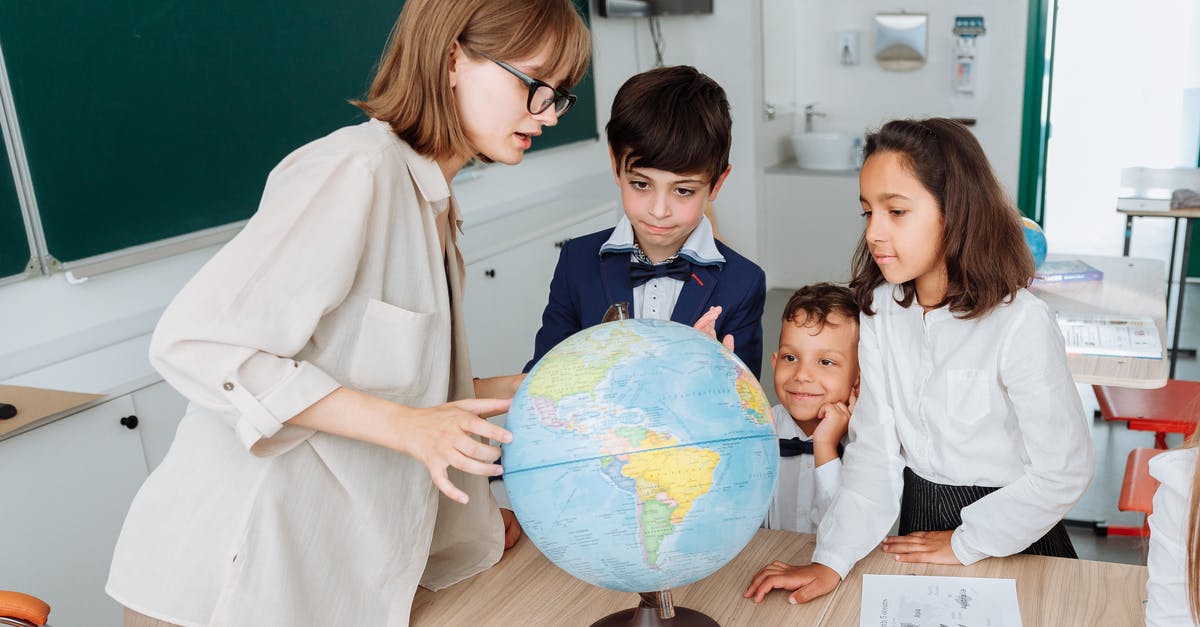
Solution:
<svg viewBox="0 0 1200 627">
<path fill-rule="evenodd" d="M 887 535 L 902 471 L 1000 490 L 962 508 L 950 547 L 965 565 L 1025 550 L 1092 478 L 1092 440 L 1054 314 L 1021 289 L 982 318 L 902 307 L 884 283 L 859 322 L 862 390 L 842 485 L 812 561 L 846 577 Z"/>
</svg>

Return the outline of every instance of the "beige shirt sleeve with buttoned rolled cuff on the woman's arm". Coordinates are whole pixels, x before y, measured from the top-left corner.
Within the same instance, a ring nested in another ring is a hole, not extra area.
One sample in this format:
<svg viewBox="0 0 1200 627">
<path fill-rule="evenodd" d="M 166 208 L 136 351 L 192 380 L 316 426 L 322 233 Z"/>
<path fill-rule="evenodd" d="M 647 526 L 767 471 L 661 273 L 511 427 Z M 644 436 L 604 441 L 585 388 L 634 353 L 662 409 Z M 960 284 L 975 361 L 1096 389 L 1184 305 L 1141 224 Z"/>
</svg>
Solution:
<svg viewBox="0 0 1200 627">
<path fill-rule="evenodd" d="M 353 155 L 290 155 L 271 172 L 258 211 L 200 269 L 155 329 L 150 360 L 192 402 L 234 416 L 259 455 L 270 438 L 340 386 L 296 360 L 354 282 L 373 177 Z M 311 431 L 289 426 L 298 442 Z M 304 432 L 298 432 L 304 431 Z"/>
</svg>

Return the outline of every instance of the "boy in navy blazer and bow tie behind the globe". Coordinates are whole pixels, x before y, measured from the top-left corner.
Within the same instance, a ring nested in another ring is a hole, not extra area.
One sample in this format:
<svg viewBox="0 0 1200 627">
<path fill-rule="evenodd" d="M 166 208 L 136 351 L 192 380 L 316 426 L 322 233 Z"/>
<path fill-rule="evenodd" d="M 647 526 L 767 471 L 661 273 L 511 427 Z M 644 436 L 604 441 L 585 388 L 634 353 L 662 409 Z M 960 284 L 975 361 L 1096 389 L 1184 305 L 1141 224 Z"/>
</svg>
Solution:
<svg viewBox="0 0 1200 627">
<path fill-rule="evenodd" d="M 716 241 L 704 217 L 730 174 L 731 127 L 725 90 L 694 67 L 658 67 L 622 85 L 605 131 L 625 216 L 563 245 L 526 372 L 626 301 L 635 318 L 696 326 L 732 342 L 758 376 L 766 276 Z"/>
</svg>

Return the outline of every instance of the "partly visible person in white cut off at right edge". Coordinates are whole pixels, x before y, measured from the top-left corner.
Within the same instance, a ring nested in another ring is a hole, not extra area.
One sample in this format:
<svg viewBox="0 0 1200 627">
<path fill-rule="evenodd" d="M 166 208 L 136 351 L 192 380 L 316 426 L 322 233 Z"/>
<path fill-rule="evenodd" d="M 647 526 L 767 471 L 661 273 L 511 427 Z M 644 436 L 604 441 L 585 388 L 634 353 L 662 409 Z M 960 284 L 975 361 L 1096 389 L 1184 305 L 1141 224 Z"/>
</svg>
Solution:
<svg viewBox="0 0 1200 627">
<path fill-rule="evenodd" d="M 1159 480 L 1150 515 L 1146 626 L 1200 625 L 1200 431 L 1187 448 L 1150 460 Z"/>
</svg>

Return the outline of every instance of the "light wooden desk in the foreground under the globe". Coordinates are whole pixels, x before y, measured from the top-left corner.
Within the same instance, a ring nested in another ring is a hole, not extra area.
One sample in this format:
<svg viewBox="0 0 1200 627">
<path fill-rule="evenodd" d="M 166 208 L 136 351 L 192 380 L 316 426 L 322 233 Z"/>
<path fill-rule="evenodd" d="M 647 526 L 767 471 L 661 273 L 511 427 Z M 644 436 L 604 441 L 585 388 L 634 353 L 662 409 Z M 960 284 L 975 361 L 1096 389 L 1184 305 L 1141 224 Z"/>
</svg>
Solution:
<svg viewBox="0 0 1200 627">
<path fill-rule="evenodd" d="M 676 607 L 703 611 L 725 627 L 755 625 L 857 626 L 863 574 L 928 574 L 1015 578 L 1021 620 L 1027 626 L 1142 623 L 1146 567 L 1019 555 L 973 566 L 901 565 L 871 551 L 832 593 L 791 605 L 774 591 L 761 604 L 742 598 L 750 578 L 772 560 L 808 563 L 811 533 L 760 530 L 750 544 L 712 575 L 672 591 Z M 637 595 L 604 590 L 575 579 L 521 538 L 494 567 L 438 592 L 419 589 L 414 627 L 580 626 L 632 608 Z"/>
</svg>

